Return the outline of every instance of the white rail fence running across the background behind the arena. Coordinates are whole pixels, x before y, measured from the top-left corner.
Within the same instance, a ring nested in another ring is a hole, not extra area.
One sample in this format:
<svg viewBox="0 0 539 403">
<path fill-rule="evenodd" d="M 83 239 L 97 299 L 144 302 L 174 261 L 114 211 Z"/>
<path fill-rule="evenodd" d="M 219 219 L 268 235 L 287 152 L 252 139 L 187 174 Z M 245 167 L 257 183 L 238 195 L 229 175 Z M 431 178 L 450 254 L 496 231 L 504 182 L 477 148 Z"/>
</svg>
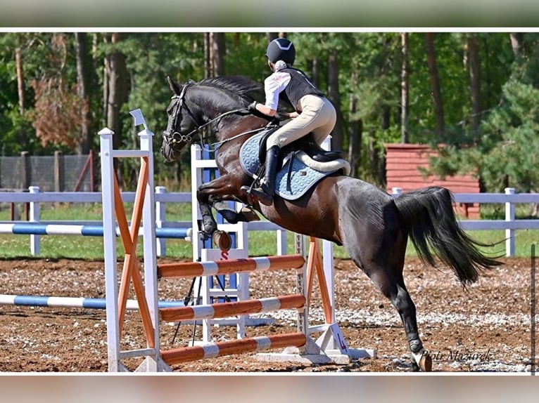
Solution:
<svg viewBox="0 0 539 403">
<path fill-rule="evenodd" d="M 39 187 L 33 186 L 29 187 L 29 190 L 30 192 L 0 192 L 0 203 L 30 204 L 30 221 L 33 223 L 65 225 L 99 225 L 101 223 L 101 221 L 42 221 L 39 218 L 39 204 L 41 203 L 101 203 L 100 192 L 39 192 Z M 402 190 L 394 187 L 392 193 L 396 197 L 402 193 Z M 515 218 L 516 204 L 539 203 L 539 193 L 517 194 L 513 188 L 507 188 L 505 193 L 455 193 L 453 196 L 457 203 L 505 204 L 505 220 L 460 220 L 459 223 L 464 230 L 505 230 L 506 256 L 514 256 L 515 254 L 516 230 L 539 230 L 539 220 L 517 220 Z M 133 202 L 134 192 L 122 193 L 122 199 L 125 202 Z M 165 204 L 191 202 L 191 193 L 189 192 L 167 193 L 164 187 L 156 187 L 157 227 L 191 227 L 190 221 L 167 221 L 165 216 Z M 3 221 L 2 223 L 14 222 Z M 248 230 L 276 230 L 278 253 L 286 253 L 286 231 L 279 225 L 267 221 L 258 221 L 248 223 Z M 31 252 L 39 251 L 39 235 L 30 235 L 30 237 L 33 239 L 31 244 L 37 243 L 37 249 L 32 246 Z M 166 239 L 164 238 L 158 240 L 160 256 L 165 256 L 165 242 Z"/>
</svg>

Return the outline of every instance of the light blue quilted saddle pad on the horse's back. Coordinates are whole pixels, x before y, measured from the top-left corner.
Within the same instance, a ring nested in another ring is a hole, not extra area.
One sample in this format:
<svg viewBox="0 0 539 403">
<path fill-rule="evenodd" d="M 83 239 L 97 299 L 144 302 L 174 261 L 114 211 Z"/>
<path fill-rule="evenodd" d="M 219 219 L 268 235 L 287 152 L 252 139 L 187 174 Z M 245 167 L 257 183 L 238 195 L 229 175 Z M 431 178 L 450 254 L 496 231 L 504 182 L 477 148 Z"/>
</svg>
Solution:
<svg viewBox="0 0 539 403">
<path fill-rule="evenodd" d="M 248 176 L 254 178 L 256 171 L 260 167 L 258 160 L 258 150 L 260 148 L 260 139 L 265 132 L 249 138 L 241 146 L 239 159 L 241 168 L 246 171 Z M 290 183 L 288 183 L 288 170 L 292 164 Z M 319 180 L 331 175 L 335 171 L 320 172 L 306 166 L 302 161 L 293 157 L 286 161 L 286 164 L 277 172 L 275 177 L 275 193 L 286 200 L 296 200 L 310 190 Z"/>
</svg>

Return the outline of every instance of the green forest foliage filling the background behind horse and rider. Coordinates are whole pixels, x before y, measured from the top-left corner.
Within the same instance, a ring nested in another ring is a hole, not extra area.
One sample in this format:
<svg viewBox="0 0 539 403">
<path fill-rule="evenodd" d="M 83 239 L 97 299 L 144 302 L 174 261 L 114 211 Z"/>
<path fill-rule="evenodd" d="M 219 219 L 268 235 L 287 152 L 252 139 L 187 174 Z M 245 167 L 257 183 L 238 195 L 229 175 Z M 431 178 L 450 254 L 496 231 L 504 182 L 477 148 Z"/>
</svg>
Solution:
<svg viewBox="0 0 539 403">
<path fill-rule="evenodd" d="M 189 153 L 182 153 L 177 164 L 160 158 L 160 133 L 166 124 L 165 108 L 170 99 L 166 77 L 180 82 L 205 76 L 203 32 L 125 32 L 122 41 L 106 44 L 106 33 L 88 34 L 91 76 L 90 110 L 92 130 L 106 125 L 103 114 L 103 63 L 113 50 L 125 55 L 129 74 L 129 98 L 122 105 L 122 147 L 137 147 L 137 131 L 127 112 L 140 108 L 155 132 L 156 176 L 169 187 L 182 187 L 189 178 Z M 383 164 L 383 144 L 400 141 L 401 37 L 398 32 L 289 32 L 296 45 L 296 65 L 306 72 L 316 65 L 317 84 L 327 90 L 329 55 L 337 55 L 339 91 L 337 105 L 345 127 L 343 147 L 348 146 L 346 127 L 362 123 L 362 166 L 360 175 L 377 178 Z M 481 64 L 481 130 L 471 131 L 470 76 L 467 67 L 467 39 L 473 36 Z M 507 32 L 436 32 L 436 61 L 443 98 L 446 147 L 433 161 L 441 175 L 457 171 L 475 172 L 486 190 L 507 185 L 520 191 L 537 188 L 534 155 L 537 133 L 537 94 L 539 88 L 539 34 L 523 33 L 521 53 L 515 58 Z M 56 39 L 55 39 L 56 38 Z M 63 34 L 58 45 L 51 32 L 7 32 L 0 34 L 0 154 L 51 154 L 58 147 L 43 147 L 32 126 L 35 99 L 33 79 L 55 76 L 76 83 L 75 35 Z M 257 81 L 269 74 L 265 60 L 265 32 L 226 32 L 224 34 L 226 74 L 247 75 Z M 18 106 L 15 48 L 23 56 L 26 112 Z M 408 79 L 410 112 L 407 131 L 412 143 L 436 145 L 435 114 L 426 63 L 424 32 L 408 34 Z M 350 112 L 350 101 L 357 100 L 357 112 Z M 385 125 L 381 126 L 382 114 Z M 94 150 L 99 136 L 92 137 Z M 370 148 L 370 149 L 369 149 Z M 71 152 L 63 147 L 65 153 Z M 374 154 L 373 154 L 374 152 Z M 500 164 L 500 161 L 504 161 Z M 125 164 L 126 176 L 134 166 Z"/>
</svg>

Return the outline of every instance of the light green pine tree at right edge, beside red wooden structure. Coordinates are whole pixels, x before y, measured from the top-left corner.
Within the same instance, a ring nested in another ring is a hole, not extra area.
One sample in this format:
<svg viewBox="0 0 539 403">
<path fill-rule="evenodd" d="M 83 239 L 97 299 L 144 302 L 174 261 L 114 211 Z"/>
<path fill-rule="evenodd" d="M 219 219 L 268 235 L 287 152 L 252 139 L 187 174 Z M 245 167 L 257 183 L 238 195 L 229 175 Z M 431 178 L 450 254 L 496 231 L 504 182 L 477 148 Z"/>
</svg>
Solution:
<svg viewBox="0 0 539 403">
<path fill-rule="evenodd" d="M 475 172 L 488 192 L 536 192 L 539 144 L 539 90 L 510 80 L 503 87 L 503 103 L 483 122 L 473 146 L 446 147 L 433 161 L 438 173 Z"/>
</svg>

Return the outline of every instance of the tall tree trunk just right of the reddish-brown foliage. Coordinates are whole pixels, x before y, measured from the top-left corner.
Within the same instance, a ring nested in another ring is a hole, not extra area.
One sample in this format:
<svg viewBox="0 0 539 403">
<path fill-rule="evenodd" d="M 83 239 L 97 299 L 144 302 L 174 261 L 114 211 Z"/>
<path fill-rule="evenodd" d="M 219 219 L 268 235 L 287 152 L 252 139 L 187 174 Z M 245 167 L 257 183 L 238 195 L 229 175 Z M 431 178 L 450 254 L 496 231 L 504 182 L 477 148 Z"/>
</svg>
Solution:
<svg viewBox="0 0 539 403">
<path fill-rule="evenodd" d="M 80 143 L 77 145 L 78 154 L 88 154 L 90 150 L 90 116 L 89 116 L 89 77 L 88 65 L 88 38 L 84 32 L 75 32 L 75 45 L 77 48 L 77 94 L 82 100 Z"/>
</svg>

